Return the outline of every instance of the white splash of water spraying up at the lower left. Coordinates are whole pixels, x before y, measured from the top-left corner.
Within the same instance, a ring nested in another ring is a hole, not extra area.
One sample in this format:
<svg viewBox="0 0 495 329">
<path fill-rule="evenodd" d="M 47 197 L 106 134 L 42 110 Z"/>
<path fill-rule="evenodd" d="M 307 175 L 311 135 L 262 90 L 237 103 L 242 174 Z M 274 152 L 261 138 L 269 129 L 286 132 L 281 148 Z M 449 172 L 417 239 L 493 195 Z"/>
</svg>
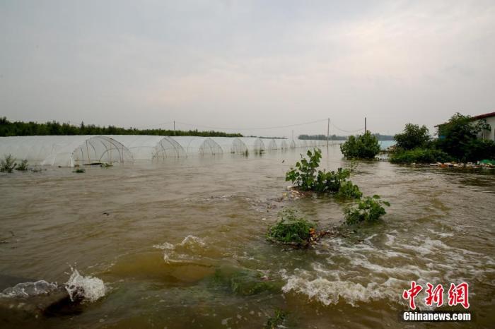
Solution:
<svg viewBox="0 0 495 329">
<path fill-rule="evenodd" d="M 97 301 L 105 296 L 107 289 L 103 280 L 89 275 L 85 277 L 72 267 L 71 271 L 71 276 L 65 284 L 71 301 L 81 298 L 83 301 Z"/>
</svg>

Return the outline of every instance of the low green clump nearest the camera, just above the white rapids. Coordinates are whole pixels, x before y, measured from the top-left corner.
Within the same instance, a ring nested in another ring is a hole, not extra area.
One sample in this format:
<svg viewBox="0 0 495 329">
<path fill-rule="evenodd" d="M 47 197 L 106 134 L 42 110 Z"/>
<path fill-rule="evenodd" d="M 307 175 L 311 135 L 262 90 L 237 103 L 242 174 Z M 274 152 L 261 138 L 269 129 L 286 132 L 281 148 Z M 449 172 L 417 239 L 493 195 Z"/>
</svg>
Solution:
<svg viewBox="0 0 495 329">
<path fill-rule="evenodd" d="M 268 229 L 267 239 L 282 244 L 307 246 L 311 235 L 315 233 L 316 225 L 303 217 L 298 217 L 295 210 L 284 209 L 275 225 Z"/>
</svg>

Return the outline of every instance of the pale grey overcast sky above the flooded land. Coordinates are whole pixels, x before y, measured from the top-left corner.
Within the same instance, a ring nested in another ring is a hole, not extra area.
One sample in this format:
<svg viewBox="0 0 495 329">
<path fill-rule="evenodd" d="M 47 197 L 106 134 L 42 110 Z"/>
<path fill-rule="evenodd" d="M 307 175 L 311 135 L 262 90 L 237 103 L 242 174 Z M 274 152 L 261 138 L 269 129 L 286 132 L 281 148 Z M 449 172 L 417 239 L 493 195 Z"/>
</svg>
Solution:
<svg viewBox="0 0 495 329">
<path fill-rule="evenodd" d="M 330 133 L 348 134 L 366 116 L 393 134 L 494 100 L 493 0 L 0 0 L 11 120 L 201 130 L 330 117 Z M 240 132 L 292 129 L 327 123 Z"/>
</svg>

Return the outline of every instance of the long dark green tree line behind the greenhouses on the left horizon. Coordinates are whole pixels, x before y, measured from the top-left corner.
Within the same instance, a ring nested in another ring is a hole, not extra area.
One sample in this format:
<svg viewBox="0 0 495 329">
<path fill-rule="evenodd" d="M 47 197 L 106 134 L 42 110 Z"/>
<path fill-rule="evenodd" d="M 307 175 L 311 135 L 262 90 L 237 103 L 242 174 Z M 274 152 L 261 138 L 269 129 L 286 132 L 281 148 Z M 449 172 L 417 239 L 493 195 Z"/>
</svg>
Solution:
<svg viewBox="0 0 495 329">
<path fill-rule="evenodd" d="M 159 135 L 159 136 L 203 136 L 203 137 L 243 137 L 240 133 L 224 133 L 222 131 L 180 131 L 170 129 L 138 129 L 121 128 L 117 126 L 95 126 L 84 124 L 60 124 L 57 121 L 47 121 L 44 124 L 37 122 L 11 122 L 0 117 L 0 136 L 42 136 L 42 135 Z"/>
</svg>

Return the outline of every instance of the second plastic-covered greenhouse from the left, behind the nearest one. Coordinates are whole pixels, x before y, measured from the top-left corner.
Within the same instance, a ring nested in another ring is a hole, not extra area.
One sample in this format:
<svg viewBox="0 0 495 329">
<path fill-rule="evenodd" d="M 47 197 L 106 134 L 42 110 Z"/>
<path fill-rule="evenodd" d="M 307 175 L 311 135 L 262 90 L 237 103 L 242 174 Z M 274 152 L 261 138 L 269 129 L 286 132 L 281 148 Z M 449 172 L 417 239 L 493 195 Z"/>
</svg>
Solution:
<svg viewBox="0 0 495 329">
<path fill-rule="evenodd" d="M 185 157 L 182 146 L 168 136 L 110 135 L 125 145 L 134 160 L 163 160 L 169 157 Z"/>
</svg>

